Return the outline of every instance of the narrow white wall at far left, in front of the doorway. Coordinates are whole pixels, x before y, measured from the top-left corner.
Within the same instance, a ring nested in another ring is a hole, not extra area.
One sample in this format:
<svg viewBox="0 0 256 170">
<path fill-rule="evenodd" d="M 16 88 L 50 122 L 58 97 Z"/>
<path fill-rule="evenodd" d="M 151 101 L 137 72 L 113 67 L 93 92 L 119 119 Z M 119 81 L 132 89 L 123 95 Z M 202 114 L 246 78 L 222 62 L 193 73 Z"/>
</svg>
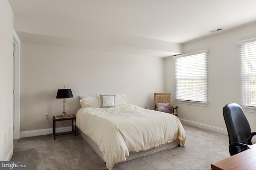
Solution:
<svg viewBox="0 0 256 170">
<path fill-rule="evenodd" d="M 0 160 L 12 156 L 12 27 L 8 0 L 0 1 Z M 11 133 L 9 135 L 9 128 Z M 6 135 L 6 141 L 4 141 Z"/>
</svg>

